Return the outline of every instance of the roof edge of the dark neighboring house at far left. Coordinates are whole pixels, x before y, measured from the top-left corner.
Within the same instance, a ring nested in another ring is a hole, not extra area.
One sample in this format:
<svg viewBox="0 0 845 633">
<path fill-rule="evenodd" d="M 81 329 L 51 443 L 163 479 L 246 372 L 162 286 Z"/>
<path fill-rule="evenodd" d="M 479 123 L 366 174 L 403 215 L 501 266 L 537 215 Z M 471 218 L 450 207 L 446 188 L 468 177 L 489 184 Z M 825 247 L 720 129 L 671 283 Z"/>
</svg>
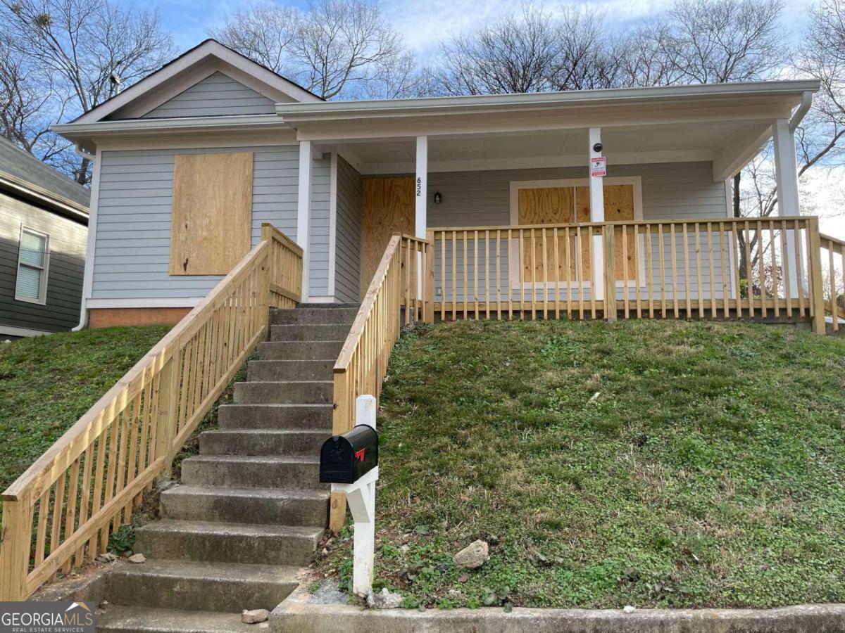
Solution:
<svg viewBox="0 0 845 633">
<path fill-rule="evenodd" d="M 0 187 L 37 198 L 53 210 L 87 219 L 90 190 L 0 137 Z"/>
</svg>

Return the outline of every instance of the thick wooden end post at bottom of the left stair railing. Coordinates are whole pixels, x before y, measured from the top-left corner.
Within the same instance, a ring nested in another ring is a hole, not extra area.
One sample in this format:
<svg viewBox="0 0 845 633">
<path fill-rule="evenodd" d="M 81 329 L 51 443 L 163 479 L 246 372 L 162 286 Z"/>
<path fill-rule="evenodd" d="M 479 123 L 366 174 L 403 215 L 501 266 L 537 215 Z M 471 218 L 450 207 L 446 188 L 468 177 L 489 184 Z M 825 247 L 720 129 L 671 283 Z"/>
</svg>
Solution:
<svg viewBox="0 0 845 633">
<path fill-rule="evenodd" d="M 0 600 L 19 601 L 29 596 L 26 576 L 30 565 L 31 533 L 29 493 L 19 500 L 4 500 L 3 532 L 0 533 Z"/>
</svg>

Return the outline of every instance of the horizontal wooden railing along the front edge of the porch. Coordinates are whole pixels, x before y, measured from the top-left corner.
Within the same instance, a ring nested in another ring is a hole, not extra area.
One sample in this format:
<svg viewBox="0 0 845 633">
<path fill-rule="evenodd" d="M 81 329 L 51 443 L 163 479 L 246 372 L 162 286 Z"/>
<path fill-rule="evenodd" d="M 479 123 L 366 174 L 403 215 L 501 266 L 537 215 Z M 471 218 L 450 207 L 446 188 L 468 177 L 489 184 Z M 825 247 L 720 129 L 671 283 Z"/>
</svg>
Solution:
<svg viewBox="0 0 845 633">
<path fill-rule="evenodd" d="M 444 321 L 683 315 L 810 318 L 818 327 L 816 218 L 445 227 L 428 235 L 428 289 Z M 599 244 L 603 258 L 594 262 Z"/>
</svg>

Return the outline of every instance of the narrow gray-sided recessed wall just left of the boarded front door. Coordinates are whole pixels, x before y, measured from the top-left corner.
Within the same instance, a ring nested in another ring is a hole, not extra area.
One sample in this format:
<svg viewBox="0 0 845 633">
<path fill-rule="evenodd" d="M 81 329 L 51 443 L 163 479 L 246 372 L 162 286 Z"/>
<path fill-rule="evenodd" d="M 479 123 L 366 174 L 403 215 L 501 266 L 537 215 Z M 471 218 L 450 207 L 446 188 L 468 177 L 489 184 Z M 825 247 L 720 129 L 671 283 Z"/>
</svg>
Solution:
<svg viewBox="0 0 845 633">
<path fill-rule="evenodd" d="M 361 174 L 338 157 L 335 299 L 341 302 L 361 299 L 362 192 Z"/>
</svg>

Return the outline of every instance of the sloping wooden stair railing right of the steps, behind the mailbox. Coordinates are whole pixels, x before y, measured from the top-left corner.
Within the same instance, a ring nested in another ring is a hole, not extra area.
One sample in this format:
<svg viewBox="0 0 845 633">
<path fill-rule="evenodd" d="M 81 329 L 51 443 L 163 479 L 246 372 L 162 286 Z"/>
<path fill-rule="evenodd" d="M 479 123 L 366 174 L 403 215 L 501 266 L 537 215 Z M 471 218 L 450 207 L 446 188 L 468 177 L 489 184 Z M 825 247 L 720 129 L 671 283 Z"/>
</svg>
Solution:
<svg viewBox="0 0 845 633">
<path fill-rule="evenodd" d="M 429 273 L 433 271 L 428 241 L 410 235 L 390 238 L 341 354 L 335 363 L 335 410 L 332 433 L 340 435 L 355 425 L 355 401 L 362 394 L 379 398 L 390 350 L 404 323 L 433 322 Z M 329 527 L 337 532 L 346 519 L 346 496 L 332 494 Z"/>
</svg>

